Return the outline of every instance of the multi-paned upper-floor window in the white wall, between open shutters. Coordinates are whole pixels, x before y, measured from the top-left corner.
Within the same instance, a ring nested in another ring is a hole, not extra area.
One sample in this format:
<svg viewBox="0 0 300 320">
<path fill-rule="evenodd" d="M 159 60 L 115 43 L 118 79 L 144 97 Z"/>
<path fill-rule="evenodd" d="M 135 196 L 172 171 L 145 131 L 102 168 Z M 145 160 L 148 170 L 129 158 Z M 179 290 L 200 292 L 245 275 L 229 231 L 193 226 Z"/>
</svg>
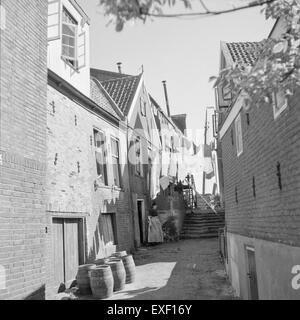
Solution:
<svg viewBox="0 0 300 320">
<path fill-rule="evenodd" d="M 62 56 L 73 67 L 77 67 L 77 29 L 77 21 L 71 16 L 66 8 L 63 8 Z"/>
</svg>

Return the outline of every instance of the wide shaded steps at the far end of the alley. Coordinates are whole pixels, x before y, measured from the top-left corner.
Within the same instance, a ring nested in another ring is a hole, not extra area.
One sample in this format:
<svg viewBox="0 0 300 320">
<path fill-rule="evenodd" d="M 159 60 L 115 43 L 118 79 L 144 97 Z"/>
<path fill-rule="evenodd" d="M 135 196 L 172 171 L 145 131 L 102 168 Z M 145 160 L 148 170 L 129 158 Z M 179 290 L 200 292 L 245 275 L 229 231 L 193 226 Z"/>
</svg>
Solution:
<svg viewBox="0 0 300 320">
<path fill-rule="evenodd" d="M 187 213 L 180 234 L 181 239 L 199 239 L 218 237 L 219 228 L 225 226 L 224 211 L 213 212 L 211 209 L 194 209 Z"/>
</svg>

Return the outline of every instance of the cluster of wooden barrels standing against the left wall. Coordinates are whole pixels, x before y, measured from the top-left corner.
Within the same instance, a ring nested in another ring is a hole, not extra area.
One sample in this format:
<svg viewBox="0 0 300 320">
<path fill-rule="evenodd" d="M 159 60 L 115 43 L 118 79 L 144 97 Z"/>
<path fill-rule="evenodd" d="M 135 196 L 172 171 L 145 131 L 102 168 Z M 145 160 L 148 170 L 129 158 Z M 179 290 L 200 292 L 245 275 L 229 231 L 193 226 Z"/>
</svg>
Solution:
<svg viewBox="0 0 300 320">
<path fill-rule="evenodd" d="M 123 290 L 125 284 L 133 283 L 135 273 L 132 255 L 120 251 L 93 264 L 79 266 L 76 280 L 80 294 L 106 299 L 113 292 Z"/>
</svg>

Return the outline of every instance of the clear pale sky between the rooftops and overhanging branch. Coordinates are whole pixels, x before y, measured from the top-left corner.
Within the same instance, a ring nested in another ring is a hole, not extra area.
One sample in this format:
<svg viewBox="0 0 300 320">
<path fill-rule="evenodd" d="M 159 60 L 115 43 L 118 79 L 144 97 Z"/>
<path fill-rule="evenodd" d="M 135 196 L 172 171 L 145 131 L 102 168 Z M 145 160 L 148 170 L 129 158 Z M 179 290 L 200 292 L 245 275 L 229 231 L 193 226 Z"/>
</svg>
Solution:
<svg viewBox="0 0 300 320">
<path fill-rule="evenodd" d="M 117 71 L 116 63 L 122 62 L 124 73 L 137 75 L 143 65 L 148 92 L 166 109 L 162 86 L 166 80 L 171 114 L 186 113 L 188 128 L 200 132 L 204 131 L 206 107 L 214 106 L 208 79 L 219 71 L 220 41 L 260 41 L 268 37 L 274 24 L 265 20 L 261 8 L 252 8 L 215 17 L 129 23 L 116 32 L 114 25 L 107 26 L 99 0 L 77 2 L 91 19 L 91 67 Z M 221 9 L 233 1 L 206 3 Z M 171 12 L 182 11 L 178 5 Z"/>
</svg>

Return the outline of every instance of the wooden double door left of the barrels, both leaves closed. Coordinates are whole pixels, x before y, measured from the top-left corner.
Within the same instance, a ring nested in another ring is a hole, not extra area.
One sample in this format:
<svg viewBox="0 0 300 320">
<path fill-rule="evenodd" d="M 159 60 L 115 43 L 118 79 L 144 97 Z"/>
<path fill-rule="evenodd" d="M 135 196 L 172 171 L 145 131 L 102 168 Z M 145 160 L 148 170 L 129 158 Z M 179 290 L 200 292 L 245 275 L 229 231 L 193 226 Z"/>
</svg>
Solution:
<svg viewBox="0 0 300 320">
<path fill-rule="evenodd" d="M 53 218 L 52 252 L 54 283 L 58 291 L 72 286 L 83 264 L 83 220 Z"/>
</svg>

